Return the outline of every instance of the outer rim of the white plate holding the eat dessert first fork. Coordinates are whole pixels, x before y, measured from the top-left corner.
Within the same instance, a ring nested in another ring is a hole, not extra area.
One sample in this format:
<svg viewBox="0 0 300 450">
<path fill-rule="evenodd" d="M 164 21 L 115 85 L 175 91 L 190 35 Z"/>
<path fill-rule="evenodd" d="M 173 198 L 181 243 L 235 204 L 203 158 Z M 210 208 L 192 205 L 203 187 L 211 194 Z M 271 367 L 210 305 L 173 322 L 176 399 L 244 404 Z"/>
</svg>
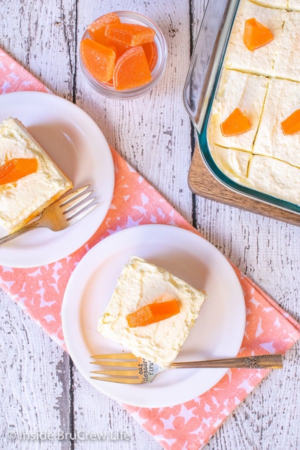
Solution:
<svg viewBox="0 0 300 450">
<path fill-rule="evenodd" d="M 132 401 L 132 400 L 130 400 L 128 395 L 125 395 L 125 396 L 119 395 L 117 390 L 118 389 L 121 390 L 121 388 L 117 388 L 116 391 L 114 391 L 113 388 L 110 388 L 110 387 L 107 388 L 106 387 L 107 385 L 116 384 L 116 383 L 109 383 L 109 382 L 101 383 L 99 381 L 90 379 L 88 372 L 86 372 L 86 370 L 83 368 L 84 364 L 81 364 L 81 362 L 80 362 L 80 357 L 78 359 L 76 352 L 74 354 L 73 344 L 72 344 L 72 342 L 70 342 L 70 336 L 68 334 L 68 324 L 67 324 L 68 320 L 67 320 L 67 318 L 69 317 L 69 312 L 70 312 L 70 311 L 68 311 L 68 307 L 69 307 L 68 296 L 71 293 L 72 288 L 73 288 L 72 287 L 73 280 L 75 278 L 78 279 L 77 274 L 78 274 L 78 272 L 80 273 L 80 270 L 81 270 L 80 283 L 81 283 L 81 286 L 83 286 L 82 283 L 84 282 L 83 278 L 84 278 L 85 274 L 84 273 L 82 274 L 81 267 L 83 268 L 83 271 L 87 270 L 87 268 L 85 268 L 84 265 L 85 264 L 88 265 L 88 261 L 90 261 L 90 259 L 93 258 L 93 255 L 94 254 L 96 255 L 98 251 L 101 251 L 101 247 L 104 245 L 103 244 L 104 241 L 106 241 L 105 242 L 105 246 L 109 246 L 111 240 L 113 240 L 115 238 L 117 240 L 123 238 L 123 241 L 124 241 L 125 240 L 124 237 L 127 237 L 127 236 L 124 236 L 124 234 L 127 234 L 127 233 L 129 233 L 129 234 L 133 233 L 134 234 L 136 230 L 137 230 L 137 232 L 140 231 L 142 233 L 142 230 L 148 231 L 149 229 L 153 229 L 154 231 L 156 230 L 157 232 L 160 232 L 160 229 L 166 230 L 166 227 L 168 227 L 168 230 L 167 230 L 168 232 L 169 232 L 169 228 L 171 227 L 172 229 L 176 229 L 176 231 L 174 231 L 175 233 L 176 232 L 187 233 L 189 236 L 193 234 L 196 239 L 199 239 L 199 241 L 200 240 L 204 241 L 205 245 L 210 246 L 211 249 L 213 248 L 213 251 L 217 252 L 218 256 L 220 258 L 223 258 L 223 261 L 226 261 L 227 268 L 228 268 L 228 270 L 231 270 L 232 279 L 234 279 L 234 282 L 236 282 L 236 287 L 239 290 L 238 295 L 240 295 L 240 300 L 242 300 L 242 301 L 240 301 L 240 307 L 241 307 L 242 312 L 241 312 L 241 318 L 239 320 L 239 339 L 235 340 L 234 351 L 232 351 L 232 353 L 234 353 L 234 354 L 230 353 L 228 356 L 236 356 L 236 354 L 238 353 L 238 351 L 240 349 L 240 346 L 241 346 L 241 343 L 242 343 L 242 340 L 243 340 L 243 337 L 244 337 L 244 330 L 245 330 L 245 324 L 246 324 L 246 308 L 245 308 L 245 302 L 244 302 L 244 295 L 243 295 L 243 291 L 242 291 L 242 287 L 240 285 L 239 279 L 238 279 L 237 274 L 235 273 L 235 271 L 234 271 L 230 261 L 213 244 L 211 244 L 207 239 L 202 237 L 200 234 L 197 234 L 196 232 L 193 232 L 192 230 L 188 230 L 186 228 L 182 228 L 182 227 L 176 226 L 176 225 L 159 224 L 159 223 L 149 223 L 149 224 L 136 225 L 136 226 L 132 226 L 132 227 L 129 227 L 129 228 L 124 228 L 122 230 L 114 232 L 113 234 L 108 235 L 107 237 L 105 237 L 104 239 L 99 241 L 97 244 L 95 244 L 82 257 L 82 259 L 78 262 L 78 264 L 74 268 L 74 271 L 70 275 L 70 278 L 69 278 L 69 280 L 67 282 L 67 285 L 66 285 L 66 288 L 65 288 L 65 292 L 64 292 L 64 296 L 63 296 L 63 300 L 62 300 L 62 306 L 61 306 L 62 332 L 63 332 L 64 342 L 65 342 L 65 346 L 67 348 L 67 351 L 69 352 L 70 357 L 72 358 L 75 366 L 77 367 L 77 369 L 81 373 L 81 375 L 91 385 L 93 385 L 98 391 L 100 391 L 101 393 L 104 393 L 104 394 L 108 395 L 109 397 L 113 398 L 116 401 L 119 401 L 119 402 L 122 402 L 122 403 L 125 403 L 125 404 L 129 404 L 129 405 L 132 405 L 132 406 L 137 406 L 137 407 L 150 407 L 150 408 L 167 407 L 167 406 L 170 407 L 170 406 L 173 406 L 175 404 L 179 404 L 179 403 L 182 403 L 182 402 L 185 402 L 185 401 L 189 401 L 193 397 L 196 397 L 198 395 L 202 395 L 204 392 L 206 392 L 211 387 L 213 387 L 226 374 L 228 369 L 227 368 L 225 368 L 225 369 L 214 369 L 214 371 L 218 371 L 218 376 L 217 376 L 217 380 L 215 382 L 213 382 L 212 385 L 210 385 L 208 388 L 205 388 L 204 391 L 200 391 L 199 390 L 198 392 L 194 392 L 192 396 L 188 395 L 186 398 L 184 398 L 184 395 L 181 395 L 179 397 L 179 401 L 176 400 L 175 402 L 172 402 L 172 401 L 165 402 L 163 400 L 163 402 L 161 402 L 161 400 L 160 401 L 153 400 L 152 397 L 150 399 L 146 398 L 146 400 L 143 398 L 143 401 L 141 401 L 141 402 L 140 401 L 136 401 L 136 398 L 135 398 L 134 401 Z M 95 267 L 91 267 L 89 265 L 88 270 L 90 270 L 90 273 L 91 273 L 92 271 L 96 270 L 96 268 Z M 81 295 L 82 294 L 82 289 L 81 288 L 78 289 L 78 287 L 76 289 L 77 289 L 76 292 L 78 292 L 78 290 L 80 290 L 80 294 L 78 294 L 78 295 Z M 78 305 L 79 305 L 79 309 L 80 309 L 81 308 L 81 301 L 80 300 L 77 300 L 77 301 L 78 301 Z M 74 308 L 74 299 L 72 300 L 72 307 Z M 78 323 L 79 322 L 80 322 L 80 320 L 78 319 Z M 82 341 L 83 341 L 83 339 L 82 339 Z M 82 342 L 80 343 L 80 345 L 81 344 L 82 344 Z M 84 344 L 82 344 L 82 348 L 83 347 L 84 347 Z M 76 348 L 78 348 L 78 343 L 76 343 Z M 197 370 L 199 370 L 199 369 L 197 369 Z M 206 370 L 206 369 L 204 369 L 204 370 Z M 182 381 L 180 381 L 178 384 L 181 384 L 181 383 L 182 383 Z M 149 383 L 148 386 L 150 386 L 149 388 L 151 390 L 153 390 L 153 387 L 151 387 L 150 384 L 151 383 Z M 129 386 L 128 384 L 118 384 L 118 385 L 126 386 L 126 388 Z M 140 385 L 130 385 L 130 386 L 134 386 L 134 388 L 136 388 L 136 387 L 138 388 L 138 386 L 140 386 Z M 146 386 L 146 384 L 142 384 L 142 386 Z M 158 387 L 158 389 L 159 389 L 159 387 Z M 124 390 L 126 390 L 126 389 L 124 389 Z M 144 392 L 141 391 L 141 394 L 142 393 L 144 393 Z"/>
</svg>

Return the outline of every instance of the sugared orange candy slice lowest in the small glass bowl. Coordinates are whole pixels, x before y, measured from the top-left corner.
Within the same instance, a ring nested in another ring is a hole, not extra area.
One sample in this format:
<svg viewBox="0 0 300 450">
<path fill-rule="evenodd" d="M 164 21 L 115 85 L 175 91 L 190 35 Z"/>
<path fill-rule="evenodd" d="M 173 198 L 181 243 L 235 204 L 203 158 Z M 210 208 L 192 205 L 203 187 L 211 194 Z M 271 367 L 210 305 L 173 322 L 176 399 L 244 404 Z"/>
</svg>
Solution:
<svg viewBox="0 0 300 450">
<path fill-rule="evenodd" d="M 152 79 L 147 59 L 141 46 L 129 48 L 117 59 L 112 79 L 116 90 L 138 87 Z"/>
</svg>

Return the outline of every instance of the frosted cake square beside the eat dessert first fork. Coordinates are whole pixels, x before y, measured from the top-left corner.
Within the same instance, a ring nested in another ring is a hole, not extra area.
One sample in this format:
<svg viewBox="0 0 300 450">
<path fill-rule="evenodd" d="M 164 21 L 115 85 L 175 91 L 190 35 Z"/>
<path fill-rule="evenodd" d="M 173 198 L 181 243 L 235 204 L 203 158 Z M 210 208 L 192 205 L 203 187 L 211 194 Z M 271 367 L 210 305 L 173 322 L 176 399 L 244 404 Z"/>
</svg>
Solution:
<svg viewBox="0 0 300 450">
<path fill-rule="evenodd" d="M 135 356 L 168 367 L 195 323 L 206 298 L 167 270 L 131 256 L 123 266 L 112 296 L 98 319 L 97 331 Z M 150 303 L 176 299 L 179 313 L 144 326 L 129 327 L 126 315 Z"/>
</svg>

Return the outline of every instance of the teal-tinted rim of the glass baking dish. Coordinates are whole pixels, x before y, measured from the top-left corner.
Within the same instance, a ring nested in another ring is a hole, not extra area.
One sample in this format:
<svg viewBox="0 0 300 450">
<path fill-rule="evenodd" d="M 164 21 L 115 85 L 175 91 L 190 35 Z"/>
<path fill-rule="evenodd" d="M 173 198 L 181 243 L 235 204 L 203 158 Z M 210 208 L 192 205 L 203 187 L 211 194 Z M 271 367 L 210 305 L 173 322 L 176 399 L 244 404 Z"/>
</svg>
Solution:
<svg viewBox="0 0 300 450">
<path fill-rule="evenodd" d="M 205 164 L 205 167 L 208 169 L 208 171 L 211 173 L 211 175 L 213 175 L 213 177 L 215 179 L 217 179 L 221 185 L 225 186 L 229 190 L 231 190 L 233 192 L 237 192 L 238 194 L 241 194 L 242 196 L 252 198 L 252 199 L 261 201 L 263 203 L 278 207 L 280 209 L 284 209 L 289 212 L 300 214 L 300 205 L 299 204 L 292 203 L 287 200 L 283 200 L 281 198 L 278 198 L 276 196 L 267 194 L 265 192 L 262 192 L 262 191 L 259 191 L 256 189 L 252 189 L 248 186 L 239 184 L 238 182 L 229 178 L 214 162 L 214 159 L 211 156 L 211 152 L 210 152 L 209 145 L 207 142 L 206 132 L 207 132 L 207 125 L 208 125 L 210 112 L 211 112 L 212 101 L 214 99 L 215 92 L 217 89 L 226 47 L 228 44 L 230 32 L 232 29 L 232 25 L 233 25 L 233 22 L 235 19 L 235 14 L 236 14 L 240 0 L 227 0 L 227 2 L 226 2 L 227 4 L 232 3 L 233 7 L 231 9 L 229 8 L 229 10 L 227 11 L 226 17 L 225 17 L 225 19 L 227 20 L 227 29 L 225 30 L 226 32 L 222 34 L 223 41 L 221 42 L 221 44 L 219 44 L 219 42 L 217 42 L 217 44 L 220 45 L 220 47 L 221 47 L 221 51 L 219 51 L 218 59 L 213 61 L 213 67 L 214 67 L 214 69 L 216 68 L 215 75 L 213 76 L 212 83 L 210 84 L 210 86 L 208 86 L 206 88 L 206 91 L 204 92 L 203 96 L 205 97 L 205 101 L 207 102 L 207 104 L 205 104 L 204 112 L 200 113 L 200 118 L 198 120 L 196 119 L 195 115 L 193 114 L 193 112 L 191 111 L 191 109 L 188 105 L 188 100 L 187 100 L 188 83 L 191 80 L 193 64 L 195 62 L 195 54 L 198 50 L 198 45 L 199 45 L 199 36 L 201 34 L 203 26 L 205 25 L 205 15 L 207 14 L 210 1 L 211 0 L 208 0 L 207 6 L 206 6 L 206 9 L 204 12 L 203 20 L 202 20 L 202 23 L 199 28 L 199 32 L 197 35 L 197 39 L 196 39 L 196 42 L 195 42 L 195 45 L 193 48 L 193 52 L 192 52 L 192 56 L 191 56 L 191 60 L 190 60 L 190 64 L 189 64 L 186 82 L 185 82 L 184 89 L 183 89 L 183 103 L 184 103 L 184 106 L 185 106 L 191 120 L 192 120 L 193 126 L 195 128 L 196 137 L 197 137 L 197 141 L 198 141 L 198 147 L 199 147 L 200 154 L 202 156 L 202 160 Z M 205 76 L 207 76 L 207 73 L 205 73 Z M 195 151 L 197 151 L 197 149 Z"/>
</svg>

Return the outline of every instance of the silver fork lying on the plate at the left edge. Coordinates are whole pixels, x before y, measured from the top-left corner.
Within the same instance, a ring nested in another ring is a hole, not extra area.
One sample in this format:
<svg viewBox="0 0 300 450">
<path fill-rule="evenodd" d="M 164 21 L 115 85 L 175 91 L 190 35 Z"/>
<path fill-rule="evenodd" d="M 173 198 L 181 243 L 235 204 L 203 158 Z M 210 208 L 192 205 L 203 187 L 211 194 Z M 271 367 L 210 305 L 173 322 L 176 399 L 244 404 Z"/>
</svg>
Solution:
<svg viewBox="0 0 300 450">
<path fill-rule="evenodd" d="M 90 187 L 90 184 L 80 187 L 68 195 L 58 198 L 58 200 L 54 201 L 54 203 L 50 204 L 42 211 L 39 219 L 28 223 L 14 233 L 1 237 L 0 244 L 8 242 L 20 234 L 40 226 L 50 228 L 52 231 L 59 231 L 60 229 L 73 225 L 88 214 L 99 203 L 96 202 L 88 208 L 86 207 L 96 198 L 91 197 L 83 201 L 93 192 L 92 190 L 88 190 L 86 192 L 88 187 Z"/>
</svg>

